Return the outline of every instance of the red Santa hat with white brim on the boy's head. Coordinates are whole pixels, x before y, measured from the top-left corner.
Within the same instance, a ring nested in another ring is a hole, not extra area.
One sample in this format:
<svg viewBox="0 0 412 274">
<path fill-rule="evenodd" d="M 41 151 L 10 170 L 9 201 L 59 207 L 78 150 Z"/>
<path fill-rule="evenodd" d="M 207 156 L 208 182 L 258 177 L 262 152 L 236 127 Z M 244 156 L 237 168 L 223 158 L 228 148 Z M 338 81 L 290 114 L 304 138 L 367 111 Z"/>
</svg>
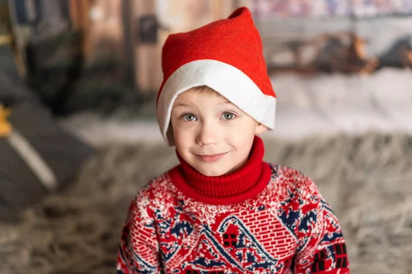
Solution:
<svg viewBox="0 0 412 274">
<path fill-rule="evenodd" d="M 191 32 L 171 34 L 163 45 L 162 69 L 157 121 L 168 145 L 174 145 L 173 102 L 196 86 L 216 90 L 256 121 L 275 127 L 276 95 L 267 75 L 262 40 L 247 8 Z"/>
</svg>

